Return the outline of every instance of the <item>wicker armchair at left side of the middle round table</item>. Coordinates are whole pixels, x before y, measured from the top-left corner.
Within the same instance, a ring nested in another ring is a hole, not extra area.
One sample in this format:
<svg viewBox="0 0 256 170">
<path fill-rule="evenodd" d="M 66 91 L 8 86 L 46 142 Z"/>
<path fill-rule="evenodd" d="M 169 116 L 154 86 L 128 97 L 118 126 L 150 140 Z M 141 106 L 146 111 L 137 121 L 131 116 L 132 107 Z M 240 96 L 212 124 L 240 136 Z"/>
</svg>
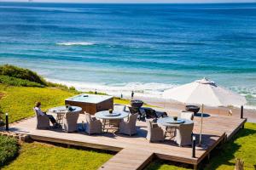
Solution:
<svg viewBox="0 0 256 170">
<path fill-rule="evenodd" d="M 86 118 L 85 132 L 90 134 L 102 133 L 102 122 L 96 120 L 96 117 L 91 117 L 89 113 L 84 112 Z"/>
</svg>

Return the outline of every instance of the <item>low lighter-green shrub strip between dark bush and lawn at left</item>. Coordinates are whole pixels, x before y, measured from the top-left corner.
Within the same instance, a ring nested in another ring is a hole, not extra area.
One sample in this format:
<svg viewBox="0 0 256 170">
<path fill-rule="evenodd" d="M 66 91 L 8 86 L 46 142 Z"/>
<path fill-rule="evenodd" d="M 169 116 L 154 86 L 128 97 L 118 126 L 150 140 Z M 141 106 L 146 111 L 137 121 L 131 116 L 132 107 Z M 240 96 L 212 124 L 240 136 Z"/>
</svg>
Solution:
<svg viewBox="0 0 256 170">
<path fill-rule="evenodd" d="M 9 76 L 0 76 L 0 83 L 9 85 L 9 86 L 24 86 L 24 87 L 38 87 L 43 88 L 44 85 L 39 84 L 38 82 L 30 82 L 28 80 L 23 80 L 20 78 L 9 77 Z"/>
</svg>

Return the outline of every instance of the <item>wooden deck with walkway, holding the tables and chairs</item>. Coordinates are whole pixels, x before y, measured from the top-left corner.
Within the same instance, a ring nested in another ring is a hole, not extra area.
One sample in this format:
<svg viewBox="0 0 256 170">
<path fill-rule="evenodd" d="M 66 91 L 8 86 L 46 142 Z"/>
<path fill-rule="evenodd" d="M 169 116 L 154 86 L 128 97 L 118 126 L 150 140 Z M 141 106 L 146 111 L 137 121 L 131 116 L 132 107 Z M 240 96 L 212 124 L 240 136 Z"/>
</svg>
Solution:
<svg viewBox="0 0 256 170">
<path fill-rule="evenodd" d="M 79 116 L 79 123 L 85 120 Z M 195 116 L 194 133 L 199 137 L 200 117 Z M 101 169 L 143 169 L 154 156 L 170 161 L 178 161 L 196 166 L 224 139 L 230 139 L 246 122 L 232 116 L 211 115 L 204 117 L 202 144 L 204 148 L 196 148 L 195 158 L 192 157 L 191 147 L 178 147 L 172 140 L 163 143 L 149 143 L 145 139 L 147 127 L 145 122 L 137 122 L 137 135 L 126 136 L 119 133 L 102 133 L 91 135 L 84 132 L 65 133 L 60 129 L 37 130 L 35 117 L 17 122 L 10 127 L 15 133 L 28 134 L 34 140 L 72 144 L 101 150 L 119 151 Z"/>
</svg>

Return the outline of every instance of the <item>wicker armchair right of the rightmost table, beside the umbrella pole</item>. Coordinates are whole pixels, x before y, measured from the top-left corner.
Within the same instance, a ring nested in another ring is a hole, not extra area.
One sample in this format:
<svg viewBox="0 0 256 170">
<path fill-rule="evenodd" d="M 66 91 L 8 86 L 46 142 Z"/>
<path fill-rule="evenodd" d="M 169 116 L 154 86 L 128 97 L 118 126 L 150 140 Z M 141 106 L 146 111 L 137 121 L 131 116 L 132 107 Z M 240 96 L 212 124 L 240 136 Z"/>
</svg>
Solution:
<svg viewBox="0 0 256 170">
<path fill-rule="evenodd" d="M 177 128 L 177 133 L 175 141 L 179 146 L 190 145 L 191 144 L 191 133 L 193 131 L 194 123 L 180 124 Z"/>
</svg>

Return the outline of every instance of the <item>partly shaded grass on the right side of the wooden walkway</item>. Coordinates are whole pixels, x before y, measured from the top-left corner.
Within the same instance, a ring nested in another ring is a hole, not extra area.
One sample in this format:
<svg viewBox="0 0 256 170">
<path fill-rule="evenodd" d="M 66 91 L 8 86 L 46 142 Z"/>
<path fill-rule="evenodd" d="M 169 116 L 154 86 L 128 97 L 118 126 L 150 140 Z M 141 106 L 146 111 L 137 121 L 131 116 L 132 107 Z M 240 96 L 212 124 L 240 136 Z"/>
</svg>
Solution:
<svg viewBox="0 0 256 170">
<path fill-rule="evenodd" d="M 246 123 L 244 129 L 236 134 L 233 140 L 225 143 L 221 149 L 212 152 L 212 159 L 204 169 L 212 170 L 234 170 L 235 158 L 244 161 L 244 168 L 248 170 L 256 169 L 256 123 Z M 166 161 L 154 161 L 147 170 L 183 170 L 185 167 L 176 167 L 166 163 Z"/>
</svg>

